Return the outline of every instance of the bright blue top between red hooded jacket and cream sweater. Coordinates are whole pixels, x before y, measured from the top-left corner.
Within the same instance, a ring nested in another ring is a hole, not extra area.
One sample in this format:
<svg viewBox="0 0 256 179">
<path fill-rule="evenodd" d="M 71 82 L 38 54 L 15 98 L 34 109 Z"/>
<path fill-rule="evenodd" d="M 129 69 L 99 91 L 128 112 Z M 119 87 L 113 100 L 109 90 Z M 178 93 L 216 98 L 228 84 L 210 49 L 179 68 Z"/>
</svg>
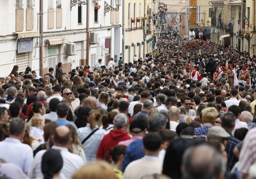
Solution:
<svg viewBox="0 0 256 179">
<path fill-rule="evenodd" d="M 143 139 L 134 140 L 127 148 L 124 156 L 124 162 L 122 164 L 122 172 L 124 172 L 126 166 L 137 159 L 141 159 L 145 156 L 142 151 Z"/>
</svg>

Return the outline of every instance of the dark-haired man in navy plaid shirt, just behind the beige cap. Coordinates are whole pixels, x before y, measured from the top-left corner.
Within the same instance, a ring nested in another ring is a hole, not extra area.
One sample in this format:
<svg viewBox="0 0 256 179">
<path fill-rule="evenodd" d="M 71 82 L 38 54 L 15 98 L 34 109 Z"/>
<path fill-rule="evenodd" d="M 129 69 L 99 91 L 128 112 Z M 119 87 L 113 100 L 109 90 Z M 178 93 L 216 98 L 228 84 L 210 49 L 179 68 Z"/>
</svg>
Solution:
<svg viewBox="0 0 256 179">
<path fill-rule="evenodd" d="M 221 114 L 221 127 L 223 127 L 226 130 L 226 132 L 230 135 L 230 137 L 228 137 L 227 144 L 225 146 L 226 152 L 228 154 L 229 171 L 232 170 L 233 166 L 238 161 L 238 159 L 233 153 L 234 148 L 240 142 L 239 139 L 232 136 L 232 131 L 236 125 L 235 122 L 236 122 L 236 116 L 232 112 L 224 112 Z"/>
</svg>

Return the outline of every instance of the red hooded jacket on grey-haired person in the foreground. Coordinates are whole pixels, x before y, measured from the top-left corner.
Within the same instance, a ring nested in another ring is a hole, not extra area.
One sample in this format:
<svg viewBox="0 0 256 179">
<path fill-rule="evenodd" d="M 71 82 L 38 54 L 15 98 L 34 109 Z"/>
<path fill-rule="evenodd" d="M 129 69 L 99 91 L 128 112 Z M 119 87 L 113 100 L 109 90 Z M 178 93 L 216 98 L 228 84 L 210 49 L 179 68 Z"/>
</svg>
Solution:
<svg viewBox="0 0 256 179">
<path fill-rule="evenodd" d="M 118 144 L 118 142 L 121 142 L 123 140 L 128 140 L 131 137 L 128 135 L 128 133 L 122 129 L 113 129 L 108 134 L 106 134 L 101 142 L 100 146 L 98 148 L 97 152 L 97 159 L 104 159 L 107 155 L 109 149 L 113 148 L 115 145 Z"/>
</svg>

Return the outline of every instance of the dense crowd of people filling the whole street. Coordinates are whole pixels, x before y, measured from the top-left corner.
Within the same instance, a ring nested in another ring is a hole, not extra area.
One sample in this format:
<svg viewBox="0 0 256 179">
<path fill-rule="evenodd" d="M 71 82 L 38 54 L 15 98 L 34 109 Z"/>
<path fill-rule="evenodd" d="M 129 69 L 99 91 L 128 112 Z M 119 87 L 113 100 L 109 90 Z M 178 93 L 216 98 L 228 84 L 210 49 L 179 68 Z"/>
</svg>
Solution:
<svg viewBox="0 0 256 179">
<path fill-rule="evenodd" d="M 118 66 L 13 66 L 0 78 L 1 175 L 256 178 L 256 56 L 191 43 L 162 31 L 153 54 Z"/>
</svg>

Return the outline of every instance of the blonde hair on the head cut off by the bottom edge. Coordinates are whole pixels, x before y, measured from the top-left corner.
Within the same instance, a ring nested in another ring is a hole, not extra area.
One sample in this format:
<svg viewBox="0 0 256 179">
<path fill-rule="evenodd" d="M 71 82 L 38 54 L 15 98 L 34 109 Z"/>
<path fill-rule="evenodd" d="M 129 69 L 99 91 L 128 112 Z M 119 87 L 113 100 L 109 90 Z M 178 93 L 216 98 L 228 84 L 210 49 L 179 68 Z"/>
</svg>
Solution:
<svg viewBox="0 0 256 179">
<path fill-rule="evenodd" d="M 108 162 L 96 161 L 80 168 L 72 179 L 117 179 L 115 172 Z"/>
</svg>

